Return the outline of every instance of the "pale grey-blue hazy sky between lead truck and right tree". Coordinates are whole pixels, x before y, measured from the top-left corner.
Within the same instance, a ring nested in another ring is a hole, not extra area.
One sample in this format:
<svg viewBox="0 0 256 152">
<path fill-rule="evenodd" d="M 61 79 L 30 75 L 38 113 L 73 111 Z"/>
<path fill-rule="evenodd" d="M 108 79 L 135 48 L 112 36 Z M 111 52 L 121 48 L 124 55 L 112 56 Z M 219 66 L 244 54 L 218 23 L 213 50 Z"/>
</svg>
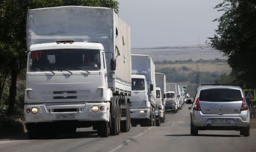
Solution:
<svg viewBox="0 0 256 152">
<path fill-rule="evenodd" d="M 119 17 L 131 27 L 131 47 L 205 45 L 214 35 L 223 0 L 119 0 Z"/>
</svg>

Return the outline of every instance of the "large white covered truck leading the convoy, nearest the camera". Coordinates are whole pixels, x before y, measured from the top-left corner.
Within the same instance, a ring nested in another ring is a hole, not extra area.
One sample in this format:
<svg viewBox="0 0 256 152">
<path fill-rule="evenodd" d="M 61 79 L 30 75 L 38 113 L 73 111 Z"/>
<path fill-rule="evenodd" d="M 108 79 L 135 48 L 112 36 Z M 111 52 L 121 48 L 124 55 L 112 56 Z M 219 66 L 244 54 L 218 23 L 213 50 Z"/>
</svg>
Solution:
<svg viewBox="0 0 256 152">
<path fill-rule="evenodd" d="M 113 9 L 28 10 L 24 117 L 29 138 L 93 126 L 130 129 L 130 27 Z"/>
</svg>

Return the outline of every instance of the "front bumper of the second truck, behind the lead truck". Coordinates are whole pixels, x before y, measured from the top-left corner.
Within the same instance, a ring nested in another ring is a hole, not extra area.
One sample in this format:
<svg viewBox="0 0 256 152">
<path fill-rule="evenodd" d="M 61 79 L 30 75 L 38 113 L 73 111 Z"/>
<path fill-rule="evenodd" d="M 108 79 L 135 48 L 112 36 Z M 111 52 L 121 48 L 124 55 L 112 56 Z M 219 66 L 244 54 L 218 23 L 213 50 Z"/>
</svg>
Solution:
<svg viewBox="0 0 256 152">
<path fill-rule="evenodd" d="M 130 116 L 131 119 L 150 119 L 150 108 L 130 109 Z"/>
</svg>

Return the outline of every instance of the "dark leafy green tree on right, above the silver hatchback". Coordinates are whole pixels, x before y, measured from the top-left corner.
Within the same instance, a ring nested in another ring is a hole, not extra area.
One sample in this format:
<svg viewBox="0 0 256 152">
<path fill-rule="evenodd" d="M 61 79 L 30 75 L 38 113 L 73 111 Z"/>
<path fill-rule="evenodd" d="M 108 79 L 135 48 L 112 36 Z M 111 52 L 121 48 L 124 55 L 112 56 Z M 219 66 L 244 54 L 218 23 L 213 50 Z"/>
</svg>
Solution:
<svg viewBox="0 0 256 152">
<path fill-rule="evenodd" d="M 214 20 L 219 25 L 210 44 L 228 57 L 237 82 L 255 88 L 256 1 L 224 0 L 215 8 L 224 14 Z"/>
</svg>

